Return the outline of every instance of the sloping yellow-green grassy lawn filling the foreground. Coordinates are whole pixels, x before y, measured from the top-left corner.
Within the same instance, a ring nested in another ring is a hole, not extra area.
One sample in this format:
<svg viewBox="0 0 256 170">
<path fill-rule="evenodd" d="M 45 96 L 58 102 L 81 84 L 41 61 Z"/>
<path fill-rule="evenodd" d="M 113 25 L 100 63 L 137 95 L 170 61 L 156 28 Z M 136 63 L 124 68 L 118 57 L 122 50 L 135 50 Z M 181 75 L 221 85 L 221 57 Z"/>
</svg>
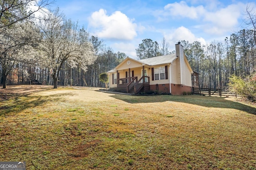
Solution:
<svg viewBox="0 0 256 170">
<path fill-rule="evenodd" d="M 26 161 L 27 170 L 256 170 L 256 106 L 235 98 L 35 88 L 0 89 L 0 161 Z"/>
</svg>

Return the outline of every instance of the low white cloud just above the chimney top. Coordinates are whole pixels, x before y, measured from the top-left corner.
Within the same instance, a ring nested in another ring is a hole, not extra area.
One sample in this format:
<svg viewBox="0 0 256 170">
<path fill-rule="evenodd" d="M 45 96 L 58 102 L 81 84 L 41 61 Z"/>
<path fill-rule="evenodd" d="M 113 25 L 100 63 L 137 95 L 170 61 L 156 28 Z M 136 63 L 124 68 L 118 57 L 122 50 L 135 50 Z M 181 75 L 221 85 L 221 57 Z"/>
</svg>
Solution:
<svg viewBox="0 0 256 170">
<path fill-rule="evenodd" d="M 185 40 L 189 43 L 199 41 L 202 45 L 206 45 L 206 41 L 202 37 L 196 37 L 188 28 L 183 26 L 171 30 L 169 33 L 164 33 L 164 37 L 170 44 L 176 44 L 178 41 Z"/>
</svg>

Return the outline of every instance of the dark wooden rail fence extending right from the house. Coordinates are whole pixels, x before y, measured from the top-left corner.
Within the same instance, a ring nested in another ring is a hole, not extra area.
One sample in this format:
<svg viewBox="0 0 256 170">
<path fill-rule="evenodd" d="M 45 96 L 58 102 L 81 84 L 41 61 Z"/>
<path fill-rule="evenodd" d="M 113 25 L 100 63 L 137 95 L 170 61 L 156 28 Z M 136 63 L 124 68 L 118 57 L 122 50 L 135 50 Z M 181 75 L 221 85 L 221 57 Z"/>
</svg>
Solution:
<svg viewBox="0 0 256 170">
<path fill-rule="evenodd" d="M 225 92 L 224 89 L 221 88 L 194 88 L 192 89 L 193 94 L 200 94 L 200 95 L 218 95 L 218 96 L 235 96 L 236 94 L 230 94 L 228 92 Z"/>
</svg>

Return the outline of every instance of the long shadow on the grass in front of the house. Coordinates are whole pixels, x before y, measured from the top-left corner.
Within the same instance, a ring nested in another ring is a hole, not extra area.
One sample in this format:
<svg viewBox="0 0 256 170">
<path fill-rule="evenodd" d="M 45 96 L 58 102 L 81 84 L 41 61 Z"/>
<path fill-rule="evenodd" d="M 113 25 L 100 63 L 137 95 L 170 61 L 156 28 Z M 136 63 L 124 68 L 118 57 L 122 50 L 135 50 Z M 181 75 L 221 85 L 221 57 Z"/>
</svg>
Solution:
<svg viewBox="0 0 256 170">
<path fill-rule="evenodd" d="M 256 107 L 251 107 L 246 104 L 239 102 L 234 102 L 226 100 L 225 98 L 220 97 L 211 97 L 211 96 L 170 96 L 170 95 L 158 95 L 158 96 L 126 96 L 126 95 L 113 95 L 111 96 L 118 100 L 123 100 L 131 104 L 136 103 L 155 103 L 155 102 L 181 102 L 187 104 L 194 104 L 204 107 L 216 107 L 216 108 L 227 108 L 227 109 L 238 109 L 241 111 L 246 111 L 256 115 Z"/>
</svg>

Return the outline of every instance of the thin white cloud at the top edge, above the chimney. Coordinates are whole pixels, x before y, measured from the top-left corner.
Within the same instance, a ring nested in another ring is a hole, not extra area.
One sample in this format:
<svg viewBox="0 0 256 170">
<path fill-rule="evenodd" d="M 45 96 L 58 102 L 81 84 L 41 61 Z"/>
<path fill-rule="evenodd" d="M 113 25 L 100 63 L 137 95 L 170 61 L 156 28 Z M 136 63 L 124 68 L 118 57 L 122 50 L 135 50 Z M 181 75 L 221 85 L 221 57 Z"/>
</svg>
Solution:
<svg viewBox="0 0 256 170">
<path fill-rule="evenodd" d="M 166 6 L 164 6 L 164 10 L 167 10 L 172 16 L 182 16 L 191 19 L 199 18 L 205 12 L 202 5 L 197 7 L 190 7 L 186 4 L 185 1 L 167 4 Z"/>
</svg>

